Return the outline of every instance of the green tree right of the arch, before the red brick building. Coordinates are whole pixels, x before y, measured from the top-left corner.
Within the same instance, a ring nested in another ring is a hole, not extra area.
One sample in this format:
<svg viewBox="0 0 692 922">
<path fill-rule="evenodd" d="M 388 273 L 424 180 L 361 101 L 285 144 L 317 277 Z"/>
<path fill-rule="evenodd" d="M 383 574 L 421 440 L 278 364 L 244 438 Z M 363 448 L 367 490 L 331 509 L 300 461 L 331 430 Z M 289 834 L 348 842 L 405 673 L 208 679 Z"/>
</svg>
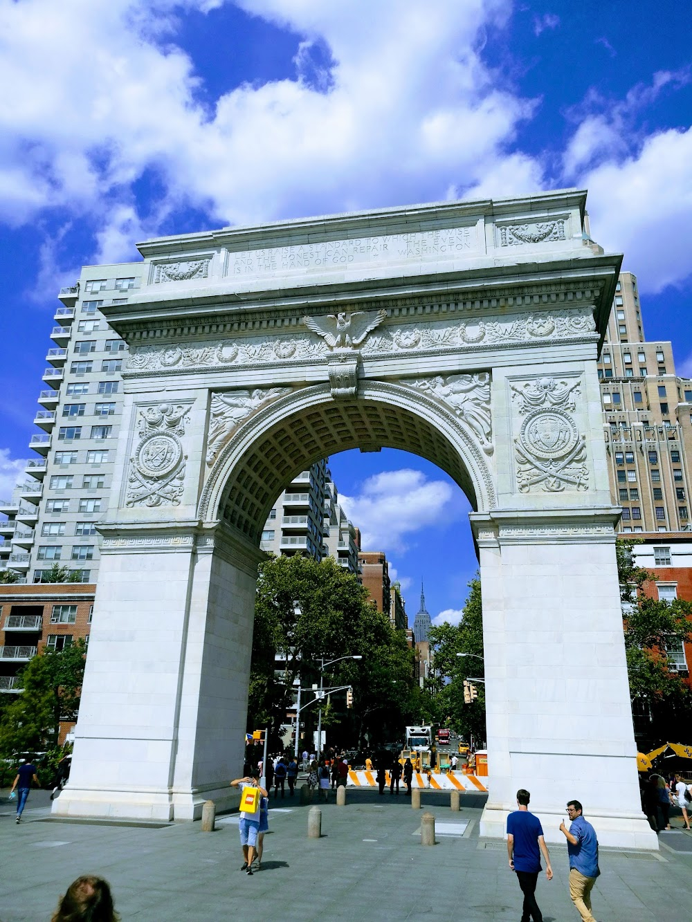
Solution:
<svg viewBox="0 0 692 922">
<path fill-rule="evenodd" d="M 629 694 L 639 714 L 648 712 L 653 717 L 662 706 L 668 711 L 689 706 L 686 683 L 668 668 L 668 651 L 690 639 L 692 604 L 681 598 L 668 602 L 645 594 L 645 584 L 656 577 L 637 565 L 632 553 L 636 543 L 616 542 L 617 573 Z"/>
</svg>

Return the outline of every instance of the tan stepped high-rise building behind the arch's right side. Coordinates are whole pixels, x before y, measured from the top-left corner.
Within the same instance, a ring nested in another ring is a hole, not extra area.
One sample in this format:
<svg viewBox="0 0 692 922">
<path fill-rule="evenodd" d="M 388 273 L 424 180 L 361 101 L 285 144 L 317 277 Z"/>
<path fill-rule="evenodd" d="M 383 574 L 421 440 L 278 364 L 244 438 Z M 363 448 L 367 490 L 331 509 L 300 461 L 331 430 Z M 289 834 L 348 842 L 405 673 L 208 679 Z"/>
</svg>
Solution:
<svg viewBox="0 0 692 922">
<path fill-rule="evenodd" d="M 630 272 L 617 283 L 598 369 L 618 530 L 692 530 L 692 380 L 675 374 L 670 342 L 646 340 Z"/>
</svg>

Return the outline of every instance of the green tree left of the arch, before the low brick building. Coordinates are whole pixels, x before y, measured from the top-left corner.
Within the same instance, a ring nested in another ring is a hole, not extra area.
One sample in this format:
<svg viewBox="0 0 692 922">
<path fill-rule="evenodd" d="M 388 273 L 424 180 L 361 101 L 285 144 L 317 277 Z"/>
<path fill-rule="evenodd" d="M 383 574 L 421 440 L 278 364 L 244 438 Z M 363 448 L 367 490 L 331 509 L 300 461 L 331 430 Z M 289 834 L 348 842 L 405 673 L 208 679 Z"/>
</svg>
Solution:
<svg viewBox="0 0 692 922">
<path fill-rule="evenodd" d="M 86 645 L 78 639 L 64 650 L 43 651 L 22 669 L 23 689 L 0 717 L 0 754 L 41 751 L 57 744 L 60 720 L 76 720 Z"/>
</svg>

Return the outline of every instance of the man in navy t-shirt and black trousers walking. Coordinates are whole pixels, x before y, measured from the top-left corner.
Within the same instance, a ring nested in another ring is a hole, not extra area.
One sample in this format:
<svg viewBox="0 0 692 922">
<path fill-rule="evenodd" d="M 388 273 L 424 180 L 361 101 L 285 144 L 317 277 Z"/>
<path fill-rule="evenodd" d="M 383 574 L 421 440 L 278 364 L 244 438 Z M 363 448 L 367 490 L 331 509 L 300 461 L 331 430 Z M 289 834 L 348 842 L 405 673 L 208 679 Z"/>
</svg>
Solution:
<svg viewBox="0 0 692 922">
<path fill-rule="evenodd" d="M 531 794 L 523 788 L 517 791 L 517 805 L 507 817 L 507 855 L 509 868 L 517 875 L 519 887 L 524 894 L 521 922 L 543 922 L 541 910 L 536 903 L 536 883 L 541 870 L 541 852 L 545 858 L 545 876 L 553 879 L 550 856 L 543 839 L 543 828 L 537 816 L 529 812 Z M 540 849 L 540 851 L 539 851 Z"/>
</svg>

